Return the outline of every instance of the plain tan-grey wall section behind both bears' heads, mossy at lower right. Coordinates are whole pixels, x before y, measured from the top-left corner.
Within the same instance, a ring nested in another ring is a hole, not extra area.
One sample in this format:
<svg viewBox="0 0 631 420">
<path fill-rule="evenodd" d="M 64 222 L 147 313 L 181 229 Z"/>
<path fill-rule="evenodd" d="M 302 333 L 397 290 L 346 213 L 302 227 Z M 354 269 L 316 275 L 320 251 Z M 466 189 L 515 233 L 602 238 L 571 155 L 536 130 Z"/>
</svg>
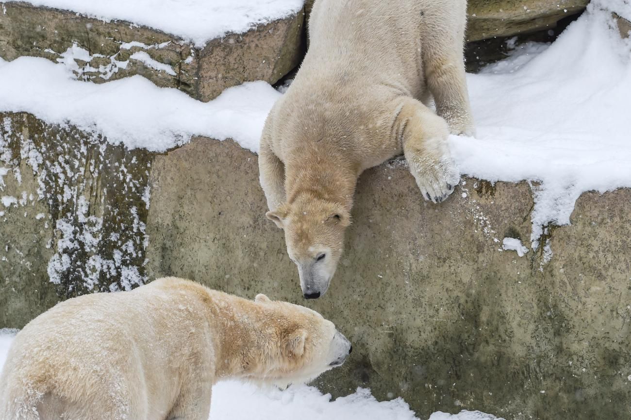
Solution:
<svg viewBox="0 0 631 420">
<path fill-rule="evenodd" d="M 554 253 L 543 264 L 540 251 L 500 251 L 505 236 L 529 237 L 528 184 L 467 179 L 432 205 L 402 162 L 381 165 L 360 178 L 331 289 L 304 301 L 257 176 L 256 156 L 230 141 L 198 138 L 157 156 L 150 278 L 321 311 L 353 342 L 350 361 L 317 382 L 334 395 L 370 387 L 404 397 L 421 418 L 631 416 L 630 189 L 584 194 L 572 225 L 543 238 Z"/>
</svg>

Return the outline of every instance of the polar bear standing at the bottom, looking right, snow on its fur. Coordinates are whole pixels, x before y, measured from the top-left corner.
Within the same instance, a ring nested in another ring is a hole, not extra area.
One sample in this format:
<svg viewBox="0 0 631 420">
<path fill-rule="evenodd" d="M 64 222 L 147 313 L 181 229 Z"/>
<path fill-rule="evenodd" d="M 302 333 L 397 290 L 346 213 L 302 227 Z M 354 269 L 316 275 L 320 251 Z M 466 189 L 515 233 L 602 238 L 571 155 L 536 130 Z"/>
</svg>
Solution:
<svg viewBox="0 0 631 420">
<path fill-rule="evenodd" d="M 350 351 L 310 309 L 159 279 L 69 299 L 31 321 L 9 350 L 0 418 L 208 420 L 223 378 L 303 382 Z"/>
</svg>

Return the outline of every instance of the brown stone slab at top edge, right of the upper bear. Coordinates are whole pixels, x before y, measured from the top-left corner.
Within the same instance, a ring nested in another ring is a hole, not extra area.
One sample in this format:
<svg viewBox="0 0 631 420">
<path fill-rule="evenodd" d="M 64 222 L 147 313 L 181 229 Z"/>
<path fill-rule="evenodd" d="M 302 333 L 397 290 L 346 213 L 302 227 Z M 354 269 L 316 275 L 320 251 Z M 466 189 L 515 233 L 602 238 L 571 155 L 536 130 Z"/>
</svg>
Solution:
<svg viewBox="0 0 631 420">
<path fill-rule="evenodd" d="M 589 0 L 469 0 L 467 42 L 553 28 Z"/>
</svg>

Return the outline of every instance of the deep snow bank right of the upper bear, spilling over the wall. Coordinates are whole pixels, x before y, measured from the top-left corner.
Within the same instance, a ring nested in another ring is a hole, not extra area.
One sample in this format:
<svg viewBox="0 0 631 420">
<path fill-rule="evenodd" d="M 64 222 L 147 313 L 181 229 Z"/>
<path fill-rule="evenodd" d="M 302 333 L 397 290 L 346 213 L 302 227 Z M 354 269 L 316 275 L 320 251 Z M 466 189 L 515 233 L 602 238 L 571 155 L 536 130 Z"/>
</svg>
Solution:
<svg viewBox="0 0 631 420">
<path fill-rule="evenodd" d="M 533 181 L 533 248 L 545 225 L 570 223 L 584 191 L 631 186 L 631 43 L 601 4 L 554 44 L 468 75 L 477 135 L 450 139 L 462 173 Z"/>
</svg>

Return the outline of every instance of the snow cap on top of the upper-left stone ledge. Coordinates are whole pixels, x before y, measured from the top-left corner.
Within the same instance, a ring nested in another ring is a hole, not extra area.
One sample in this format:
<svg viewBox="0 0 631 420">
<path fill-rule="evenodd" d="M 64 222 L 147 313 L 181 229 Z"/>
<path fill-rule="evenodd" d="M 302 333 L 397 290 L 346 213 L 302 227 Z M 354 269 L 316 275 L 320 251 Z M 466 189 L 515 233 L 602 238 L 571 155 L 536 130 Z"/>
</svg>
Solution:
<svg viewBox="0 0 631 420">
<path fill-rule="evenodd" d="M 18 0 L 4 3 L 12 1 Z M 293 15 L 302 9 L 304 0 L 31 0 L 27 3 L 71 10 L 103 21 L 126 20 L 172 33 L 203 47 L 208 40 L 228 32 L 247 32 L 256 25 Z"/>
</svg>

